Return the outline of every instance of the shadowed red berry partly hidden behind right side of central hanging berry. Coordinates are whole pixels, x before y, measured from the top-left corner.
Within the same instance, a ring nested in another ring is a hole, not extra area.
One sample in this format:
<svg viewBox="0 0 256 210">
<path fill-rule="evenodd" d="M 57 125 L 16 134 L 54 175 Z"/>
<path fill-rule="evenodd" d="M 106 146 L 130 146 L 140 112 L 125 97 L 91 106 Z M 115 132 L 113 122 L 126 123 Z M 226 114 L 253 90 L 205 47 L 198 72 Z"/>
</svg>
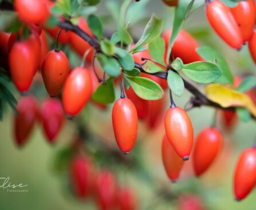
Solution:
<svg viewBox="0 0 256 210">
<path fill-rule="evenodd" d="M 137 96 L 137 94 L 132 90 L 132 87 L 129 87 L 128 90 L 125 88 L 125 93 L 127 95 L 127 98 L 130 99 L 134 104 L 137 111 L 138 118 L 145 119 L 148 115 L 147 100 L 144 100 L 139 96 Z"/>
</svg>

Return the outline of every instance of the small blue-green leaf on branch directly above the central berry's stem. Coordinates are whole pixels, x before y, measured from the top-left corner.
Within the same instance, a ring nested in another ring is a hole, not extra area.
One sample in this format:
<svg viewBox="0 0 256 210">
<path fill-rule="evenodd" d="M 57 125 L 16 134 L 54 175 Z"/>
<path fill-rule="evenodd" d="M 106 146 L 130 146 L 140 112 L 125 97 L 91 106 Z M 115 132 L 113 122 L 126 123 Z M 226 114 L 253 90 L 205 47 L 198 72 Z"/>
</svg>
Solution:
<svg viewBox="0 0 256 210">
<path fill-rule="evenodd" d="M 135 66 L 132 55 L 129 54 L 127 51 L 120 49 L 119 47 L 116 47 L 115 49 L 119 63 L 124 68 L 124 70 L 132 71 Z"/>
</svg>

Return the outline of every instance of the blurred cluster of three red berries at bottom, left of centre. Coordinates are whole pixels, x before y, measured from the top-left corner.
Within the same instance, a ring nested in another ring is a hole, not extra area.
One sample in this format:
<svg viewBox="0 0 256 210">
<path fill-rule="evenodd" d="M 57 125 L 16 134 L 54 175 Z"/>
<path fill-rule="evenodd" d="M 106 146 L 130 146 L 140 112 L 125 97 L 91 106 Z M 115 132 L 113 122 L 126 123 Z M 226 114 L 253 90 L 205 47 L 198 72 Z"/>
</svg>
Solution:
<svg viewBox="0 0 256 210">
<path fill-rule="evenodd" d="M 111 171 L 97 171 L 89 158 L 74 156 L 70 160 L 69 171 L 72 191 L 79 199 L 93 197 L 99 209 L 137 209 L 137 200 L 132 189 L 120 187 Z"/>
</svg>

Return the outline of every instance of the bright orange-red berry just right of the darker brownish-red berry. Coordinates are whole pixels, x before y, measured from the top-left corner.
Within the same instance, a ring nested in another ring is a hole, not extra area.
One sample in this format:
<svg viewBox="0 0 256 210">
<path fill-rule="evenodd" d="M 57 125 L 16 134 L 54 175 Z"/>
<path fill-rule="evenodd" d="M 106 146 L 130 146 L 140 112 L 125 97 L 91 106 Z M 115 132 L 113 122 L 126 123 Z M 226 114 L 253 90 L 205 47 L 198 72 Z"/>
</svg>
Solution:
<svg viewBox="0 0 256 210">
<path fill-rule="evenodd" d="M 77 115 L 92 96 L 92 78 L 86 68 L 74 68 L 63 88 L 62 104 L 66 114 Z"/>
</svg>

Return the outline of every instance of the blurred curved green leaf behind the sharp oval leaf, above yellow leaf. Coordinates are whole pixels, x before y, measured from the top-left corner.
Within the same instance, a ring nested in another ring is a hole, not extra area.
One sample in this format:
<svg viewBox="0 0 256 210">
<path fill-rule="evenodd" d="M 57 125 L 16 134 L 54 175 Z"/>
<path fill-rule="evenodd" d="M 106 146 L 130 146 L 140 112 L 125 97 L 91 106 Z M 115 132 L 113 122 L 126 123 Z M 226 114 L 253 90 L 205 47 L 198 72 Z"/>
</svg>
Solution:
<svg viewBox="0 0 256 210">
<path fill-rule="evenodd" d="M 216 80 L 216 83 L 233 84 L 233 75 L 229 65 L 218 51 L 208 46 L 199 47 L 196 51 L 204 60 L 216 62 L 217 66 L 222 70 L 222 76 Z"/>
</svg>

